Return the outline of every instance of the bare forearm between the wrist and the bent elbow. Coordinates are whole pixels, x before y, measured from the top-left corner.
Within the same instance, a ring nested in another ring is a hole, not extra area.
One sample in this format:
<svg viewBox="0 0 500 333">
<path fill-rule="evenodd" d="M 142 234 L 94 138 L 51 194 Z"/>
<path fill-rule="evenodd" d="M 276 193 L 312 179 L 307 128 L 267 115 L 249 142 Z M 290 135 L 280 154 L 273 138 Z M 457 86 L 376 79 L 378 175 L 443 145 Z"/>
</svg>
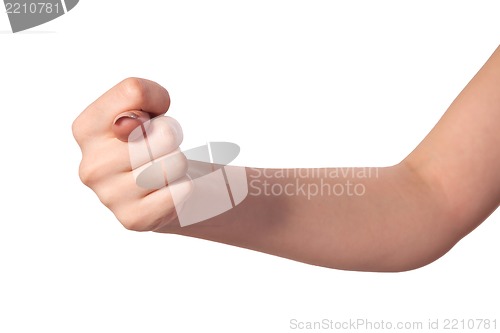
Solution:
<svg viewBox="0 0 500 333">
<path fill-rule="evenodd" d="M 440 223 L 439 194 L 404 164 L 379 169 L 248 168 L 247 175 L 249 195 L 240 205 L 198 224 L 160 231 L 370 271 L 419 267 L 456 241 Z"/>
</svg>

